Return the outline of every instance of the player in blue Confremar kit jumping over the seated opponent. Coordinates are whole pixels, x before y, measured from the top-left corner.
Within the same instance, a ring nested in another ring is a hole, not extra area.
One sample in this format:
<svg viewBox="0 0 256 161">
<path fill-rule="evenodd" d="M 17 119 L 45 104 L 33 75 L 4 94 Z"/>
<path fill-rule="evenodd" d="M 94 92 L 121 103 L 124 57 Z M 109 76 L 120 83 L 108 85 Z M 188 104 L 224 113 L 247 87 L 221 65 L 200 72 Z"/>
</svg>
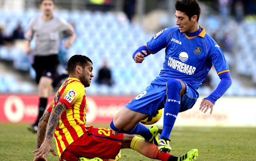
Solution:
<svg viewBox="0 0 256 161">
<path fill-rule="evenodd" d="M 197 89 L 212 65 L 221 81 L 202 100 L 199 110 L 206 113 L 210 109 L 211 114 L 216 100 L 232 83 L 229 66 L 221 48 L 198 24 L 198 1 L 178 0 L 175 10 L 178 27 L 165 28 L 158 32 L 132 55 L 135 63 L 142 63 L 146 56 L 165 48 L 163 69 L 150 86 L 116 114 L 110 124 L 111 129 L 120 133 L 140 134 L 150 140 L 152 134 L 140 121 L 164 108 L 163 131 L 157 142 L 158 150 L 165 153 L 171 150 L 169 136 L 178 113 L 194 106 L 199 97 Z"/>
</svg>

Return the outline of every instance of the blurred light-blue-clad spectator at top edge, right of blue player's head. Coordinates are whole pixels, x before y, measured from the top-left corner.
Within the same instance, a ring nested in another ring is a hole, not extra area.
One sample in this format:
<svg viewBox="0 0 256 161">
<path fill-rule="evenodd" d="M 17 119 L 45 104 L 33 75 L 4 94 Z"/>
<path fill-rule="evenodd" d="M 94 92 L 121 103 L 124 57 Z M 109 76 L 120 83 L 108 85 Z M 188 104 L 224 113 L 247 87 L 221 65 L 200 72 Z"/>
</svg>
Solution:
<svg viewBox="0 0 256 161">
<path fill-rule="evenodd" d="M 233 0 L 217 0 L 222 23 L 228 23 Z"/>
</svg>

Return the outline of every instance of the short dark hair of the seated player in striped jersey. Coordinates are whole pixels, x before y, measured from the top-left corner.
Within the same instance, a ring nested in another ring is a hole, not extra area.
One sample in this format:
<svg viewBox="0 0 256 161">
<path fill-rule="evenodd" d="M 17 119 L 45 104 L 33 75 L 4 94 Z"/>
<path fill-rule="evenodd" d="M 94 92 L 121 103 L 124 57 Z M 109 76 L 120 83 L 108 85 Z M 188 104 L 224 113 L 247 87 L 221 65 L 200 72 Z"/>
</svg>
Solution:
<svg viewBox="0 0 256 161">
<path fill-rule="evenodd" d="M 84 68 L 84 66 L 88 62 L 92 63 L 92 60 L 85 55 L 73 55 L 71 56 L 67 64 L 68 72 L 69 73 L 74 72 L 77 65 L 80 65 L 82 66 L 82 68 Z"/>
</svg>

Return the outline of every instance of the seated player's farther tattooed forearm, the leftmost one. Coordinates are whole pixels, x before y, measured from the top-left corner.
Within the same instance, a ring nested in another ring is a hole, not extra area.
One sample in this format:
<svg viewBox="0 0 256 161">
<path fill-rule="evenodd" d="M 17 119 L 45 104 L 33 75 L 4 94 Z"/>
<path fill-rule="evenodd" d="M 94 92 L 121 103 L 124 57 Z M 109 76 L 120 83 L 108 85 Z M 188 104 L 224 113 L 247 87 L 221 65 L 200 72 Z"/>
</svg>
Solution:
<svg viewBox="0 0 256 161">
<path fill-rule="evenodd" d="M 45 138 L 45 131 L 46 131 L 49 117 L 50 117 L 50 112 L 46 111 L 39 121 L 38 131 L 37 131 L 37 148 L 40 148 Z"/>
</svg>

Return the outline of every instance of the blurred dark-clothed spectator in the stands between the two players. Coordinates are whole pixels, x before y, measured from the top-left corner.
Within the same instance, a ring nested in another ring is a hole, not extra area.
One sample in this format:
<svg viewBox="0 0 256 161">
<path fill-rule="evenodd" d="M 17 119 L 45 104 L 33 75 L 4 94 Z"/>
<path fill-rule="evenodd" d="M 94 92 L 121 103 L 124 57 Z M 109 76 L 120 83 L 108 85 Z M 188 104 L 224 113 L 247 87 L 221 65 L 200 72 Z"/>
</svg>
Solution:
<svg viewBox="0 0 256 161">
<path fill-rule="evenodd" d="M 106 59 L 103 61 L 101 69 L 99 69 L 97 83 L 109 86 L 113 84 L 111 70 L 108 67 L 108 61 Z"/>
</svg>

